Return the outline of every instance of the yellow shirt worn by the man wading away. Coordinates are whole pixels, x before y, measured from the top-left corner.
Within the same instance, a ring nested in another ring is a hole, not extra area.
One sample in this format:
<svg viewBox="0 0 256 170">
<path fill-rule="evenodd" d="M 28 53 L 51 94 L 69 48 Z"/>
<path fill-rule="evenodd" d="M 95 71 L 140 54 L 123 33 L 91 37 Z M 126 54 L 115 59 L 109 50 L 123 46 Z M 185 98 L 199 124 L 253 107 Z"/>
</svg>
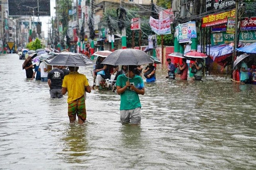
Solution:
<svg viewBox="0 0 256 170">
<path fill-rule="evenodd" d="M 70 103 L 82 97 L 85 92 L 84 88 L 88 85 L 89 83 L 86 76 L 78 72 L 70 72 L 68 75 L 64 76 L 62 87 L 67 88 L 67 102 Z"/>
</svg>

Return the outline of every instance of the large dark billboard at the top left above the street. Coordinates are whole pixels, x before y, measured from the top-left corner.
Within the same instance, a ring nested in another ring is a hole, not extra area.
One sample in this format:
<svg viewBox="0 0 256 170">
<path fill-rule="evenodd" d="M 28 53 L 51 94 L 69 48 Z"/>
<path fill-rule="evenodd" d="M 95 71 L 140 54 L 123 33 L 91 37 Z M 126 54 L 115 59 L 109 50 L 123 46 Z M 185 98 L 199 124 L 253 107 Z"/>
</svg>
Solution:
<svg viewBox="0 0 256 170">
<path fill-rule="evenodd" d="M 8 0 L 8 6 L 9 16 L 51 16 L 50 0 Z"/>
</svg>

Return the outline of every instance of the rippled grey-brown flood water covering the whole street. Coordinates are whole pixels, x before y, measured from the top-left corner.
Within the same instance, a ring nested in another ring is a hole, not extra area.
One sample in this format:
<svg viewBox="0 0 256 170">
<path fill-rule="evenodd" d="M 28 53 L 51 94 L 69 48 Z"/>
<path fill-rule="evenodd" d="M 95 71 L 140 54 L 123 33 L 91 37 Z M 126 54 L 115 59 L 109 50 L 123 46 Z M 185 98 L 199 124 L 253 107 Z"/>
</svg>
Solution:
<svg viewBox="0 0 256 170">
<path fill-rule="evenodd" d="M 140 126 L 119 122 L 120 97 L 87 94 L 87 118 L 70 124 L 67 96 L 27 80 L 24 60 L 0 56 L 0 170 L 253 170 L 256 85 L 229 76 L 165 79 L 140 95 Z M 80 68 L 92 85 L 92 67 Z"/>
</svg>

